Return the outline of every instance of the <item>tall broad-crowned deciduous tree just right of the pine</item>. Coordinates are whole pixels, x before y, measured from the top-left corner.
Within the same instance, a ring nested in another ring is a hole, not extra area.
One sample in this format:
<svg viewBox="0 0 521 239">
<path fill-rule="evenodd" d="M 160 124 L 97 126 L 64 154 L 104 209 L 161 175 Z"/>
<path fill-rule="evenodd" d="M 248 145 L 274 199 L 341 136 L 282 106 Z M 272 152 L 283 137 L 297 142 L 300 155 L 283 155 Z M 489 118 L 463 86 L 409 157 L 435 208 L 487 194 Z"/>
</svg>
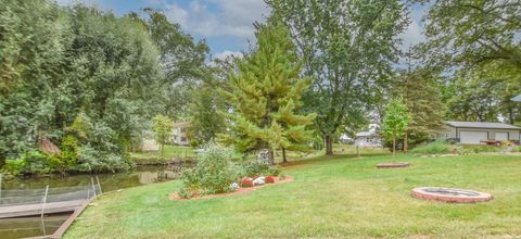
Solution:
<svg viewBox="0 0 521 239">
<path fill-rule="evenodd" d="M 361 118 L 379 99 L 381 85 L 397 61 L 397 35 L 407 25 L 401 0 L 266 0 L 290 27 L 304 60 L 303 73 L 314 78 L 304 97 L 317 112 L 316 125 L 333 154 L 338 128 Z"/>
</svg>

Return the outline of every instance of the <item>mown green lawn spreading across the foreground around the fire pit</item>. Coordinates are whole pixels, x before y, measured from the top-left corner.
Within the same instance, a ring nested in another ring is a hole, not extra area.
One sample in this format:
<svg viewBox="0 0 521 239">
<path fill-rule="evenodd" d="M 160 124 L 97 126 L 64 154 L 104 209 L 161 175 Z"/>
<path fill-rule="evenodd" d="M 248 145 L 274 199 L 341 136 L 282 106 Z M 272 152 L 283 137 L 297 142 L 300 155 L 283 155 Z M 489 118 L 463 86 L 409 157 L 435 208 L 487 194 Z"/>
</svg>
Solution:
<svg viewBox="0 0 521 239">
<path fill-rule="evenodd" d="M 291 184 L 227 198 L 168 201 L 178 181 L 107 193 L 66 238 L 483 238 L 521 237 L 521 158 L 416 158 L 409 168 L 377 169 L 389 155 L 293 162 Z M 414 199 L 443 186 L 491 192 L 476 204 Z"/>
</svg>

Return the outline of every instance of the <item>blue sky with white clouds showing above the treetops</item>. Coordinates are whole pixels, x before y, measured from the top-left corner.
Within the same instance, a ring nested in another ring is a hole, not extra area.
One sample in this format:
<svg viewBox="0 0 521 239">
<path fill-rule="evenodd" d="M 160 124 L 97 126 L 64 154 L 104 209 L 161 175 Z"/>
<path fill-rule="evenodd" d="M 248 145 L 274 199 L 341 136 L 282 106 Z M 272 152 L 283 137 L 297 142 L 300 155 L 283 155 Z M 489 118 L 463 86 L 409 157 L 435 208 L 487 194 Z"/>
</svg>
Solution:
<svg viewBox="0 0 521 239">
<path fill-rule="evenodd" d="M 253 23 L 264 22 L 269 9 L 264 0 L 56 0 L 61 5 L 85 3 L 123 15 L 151 7 L 163 11 L 171 22 L 196 40 L 205 39 L 213 58 L 226 58 L 247 50 L 255 39 Z M 423 7 L 410 10 L 410 24 L 399 37 L 402 49 L 424 40 Z"/>
</svg>

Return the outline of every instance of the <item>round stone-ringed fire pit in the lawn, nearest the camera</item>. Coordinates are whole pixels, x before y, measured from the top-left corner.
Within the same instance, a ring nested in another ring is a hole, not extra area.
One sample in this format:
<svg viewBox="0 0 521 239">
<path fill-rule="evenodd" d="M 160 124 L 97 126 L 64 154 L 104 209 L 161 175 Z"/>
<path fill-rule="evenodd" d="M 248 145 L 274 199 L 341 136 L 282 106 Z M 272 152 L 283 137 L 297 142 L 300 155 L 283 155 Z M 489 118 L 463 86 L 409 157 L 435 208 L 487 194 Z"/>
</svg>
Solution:
<svg viewBox="0 0 521 239">
<path fill-rule="evenodd" d="M 420 187 L 411 191 L 412 197 L 418 199 L 437 200 L 442 202 L 471 203 L 492 200 L 486 192 L 472 191 L 457 188 Z"/>
</svg>

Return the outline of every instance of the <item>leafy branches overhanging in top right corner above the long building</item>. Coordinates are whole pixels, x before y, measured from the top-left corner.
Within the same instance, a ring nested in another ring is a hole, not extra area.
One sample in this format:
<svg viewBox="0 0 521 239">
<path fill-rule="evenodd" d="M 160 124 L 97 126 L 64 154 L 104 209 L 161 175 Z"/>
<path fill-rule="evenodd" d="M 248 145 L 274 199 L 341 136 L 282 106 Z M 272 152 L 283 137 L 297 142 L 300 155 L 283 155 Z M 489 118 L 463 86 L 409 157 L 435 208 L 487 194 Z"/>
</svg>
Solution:
<svg viewBox="0 0 521 239">
<path fill-rule="evenodd" d="M 427 42 L 421 46 L 429 65 L 476 66 L 497 62 L 521 68 L 518 1 L 440 0 L 429 7 Z"/>
</svg>

